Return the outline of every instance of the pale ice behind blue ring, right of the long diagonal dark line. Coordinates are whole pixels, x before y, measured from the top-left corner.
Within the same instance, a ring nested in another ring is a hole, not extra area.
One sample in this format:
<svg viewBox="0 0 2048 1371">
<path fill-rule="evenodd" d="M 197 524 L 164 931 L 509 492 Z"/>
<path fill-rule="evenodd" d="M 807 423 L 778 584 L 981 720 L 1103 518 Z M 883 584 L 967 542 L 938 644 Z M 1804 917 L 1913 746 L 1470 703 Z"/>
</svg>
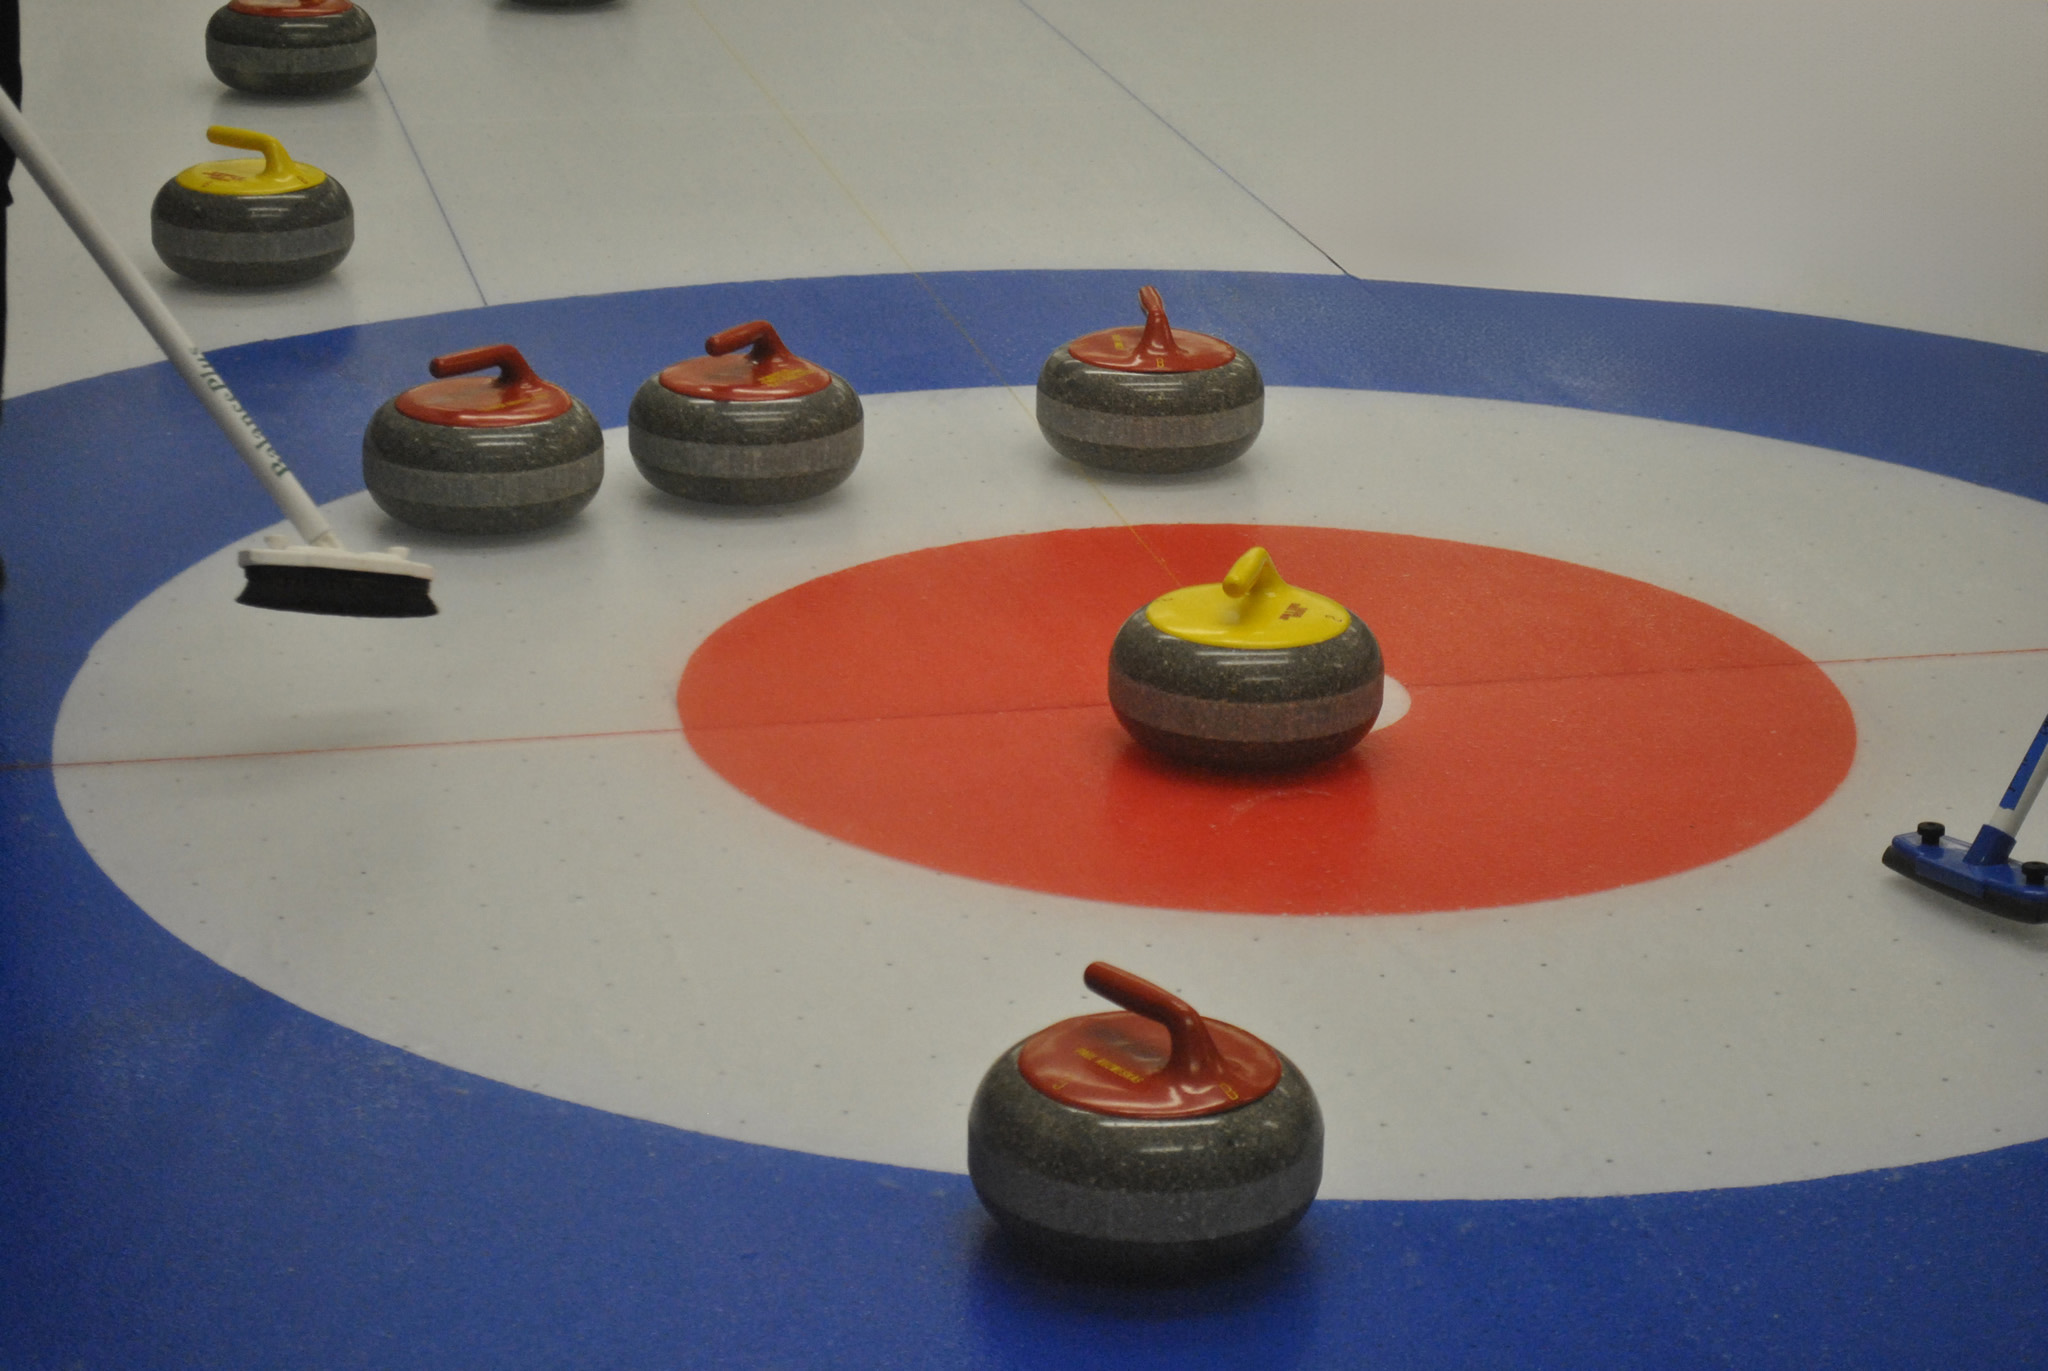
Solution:
<svg viewBox="0 0 2048 1371">
<path fill-rule="evenodd" d="M 1026 2 L 1352 275 L 2048 346 L 2048 6 Z"/>
</svg>

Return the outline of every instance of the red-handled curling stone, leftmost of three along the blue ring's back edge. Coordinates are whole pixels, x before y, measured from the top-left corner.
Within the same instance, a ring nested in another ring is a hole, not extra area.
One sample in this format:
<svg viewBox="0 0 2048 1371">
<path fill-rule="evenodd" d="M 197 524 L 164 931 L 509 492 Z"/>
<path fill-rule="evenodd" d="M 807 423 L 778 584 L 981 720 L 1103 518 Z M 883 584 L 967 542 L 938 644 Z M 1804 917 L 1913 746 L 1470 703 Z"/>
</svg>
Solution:
<svg viewBox="0 0 2048 1371">
<path fill-rule="evenodd" d="M 469 375 L 498 369 L 496 377 Z M 604 432 L 584 404 L 498 344 L 436 357 L 371 418 L 362 484 L 391 514 L 440 533 L 528 533 L 590 504 Z"/>
</svg>

